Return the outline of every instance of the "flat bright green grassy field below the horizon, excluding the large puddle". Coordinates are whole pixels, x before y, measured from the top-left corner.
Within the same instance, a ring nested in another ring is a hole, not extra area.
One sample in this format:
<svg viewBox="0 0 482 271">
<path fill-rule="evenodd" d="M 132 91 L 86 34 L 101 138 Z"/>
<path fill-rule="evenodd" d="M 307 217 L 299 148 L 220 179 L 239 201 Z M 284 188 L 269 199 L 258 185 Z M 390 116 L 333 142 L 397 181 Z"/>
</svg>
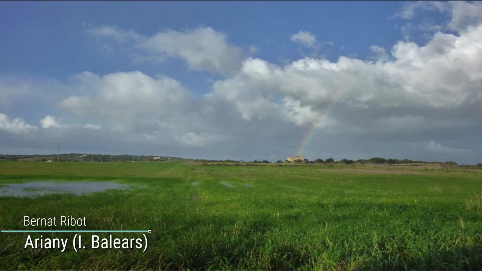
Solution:
<svg viewBox="0 0 482 271">
<path fill-rule="evenodd" d="M 0 185 L 35 180 L 137 185 L 81 196 L 0 197 L 1 230 L 32 230 L 21 225 L 23 216 L 61 215 L 85 216 L 87 226 L 35 230 L 152 230 L 146 252 L 24 249 L 26 233 L 1 233 L 0 266 L 15 270 L 482 269 L 482 207 L 477 197 L 482 192 L 482 171 L 420 169 L 408 175 L 400 174 L 408 169 L 375 170 L 185 161 L 0 162 Z M 72 238 L 69 233 L 54 235 Z"/>
</svg>

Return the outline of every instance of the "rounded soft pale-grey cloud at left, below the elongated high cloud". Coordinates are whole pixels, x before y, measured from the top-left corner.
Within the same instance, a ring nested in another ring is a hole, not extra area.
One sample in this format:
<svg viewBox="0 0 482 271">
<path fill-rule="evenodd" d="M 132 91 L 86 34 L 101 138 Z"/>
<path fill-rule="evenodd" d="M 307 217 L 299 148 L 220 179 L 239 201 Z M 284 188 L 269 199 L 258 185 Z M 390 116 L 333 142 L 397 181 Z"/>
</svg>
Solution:
<svg viewBox="0 0 482 271">
<path fill-rule="evenodd" d="M 104 118 L 120 130 L 134 129 L 138 119 L 180 115 L 189 107 L 187 89 L 166 76 L 152 78 L 134 71 L 102 77 L 83 73 L 79 78 L 91 87 L 92 94 L 69 96 L 59 106 L 80 117 Z"/>
</svg>

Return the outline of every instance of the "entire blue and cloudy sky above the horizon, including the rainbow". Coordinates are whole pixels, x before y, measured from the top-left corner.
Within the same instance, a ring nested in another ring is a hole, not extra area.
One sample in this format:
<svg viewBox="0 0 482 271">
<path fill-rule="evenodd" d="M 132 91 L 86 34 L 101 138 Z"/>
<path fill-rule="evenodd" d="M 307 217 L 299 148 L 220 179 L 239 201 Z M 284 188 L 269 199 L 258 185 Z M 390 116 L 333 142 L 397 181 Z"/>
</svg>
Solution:
<svg viewBox="0 0 482 271">
<path fill-rule="evenodd" d="M 0 153 L 482 163 L 480 1 L 1 1 Z"/>
</svg>

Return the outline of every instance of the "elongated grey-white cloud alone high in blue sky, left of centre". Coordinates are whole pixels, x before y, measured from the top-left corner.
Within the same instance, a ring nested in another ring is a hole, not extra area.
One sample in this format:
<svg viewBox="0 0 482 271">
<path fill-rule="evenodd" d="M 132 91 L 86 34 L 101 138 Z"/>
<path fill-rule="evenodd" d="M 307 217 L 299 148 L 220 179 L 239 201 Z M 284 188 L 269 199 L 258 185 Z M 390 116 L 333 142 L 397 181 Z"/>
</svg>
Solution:
<svg viewBox="0 0 482 271">
<path fill-rule="evenodd" d="M 87 32 L 102 44 L 116 43 L 136 61 L 163 61 L 167 57 L 176 57 L 185 60 L 191 69 L 225 75 L 239 68 L 243 55 L 239 47 L 228 42 L 226 34 L 211 27 L 182 32 L 166 30 L 152 36 L 116 26 L 92 27 Z"/>
</svg>

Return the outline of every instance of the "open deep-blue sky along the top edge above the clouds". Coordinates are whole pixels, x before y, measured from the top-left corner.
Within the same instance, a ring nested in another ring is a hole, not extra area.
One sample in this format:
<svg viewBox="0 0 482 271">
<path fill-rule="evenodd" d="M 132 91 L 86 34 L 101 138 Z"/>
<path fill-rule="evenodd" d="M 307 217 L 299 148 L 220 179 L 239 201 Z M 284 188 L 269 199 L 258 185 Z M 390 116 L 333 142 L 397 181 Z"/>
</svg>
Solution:
<svg viewBox="0 0 482 271">
<path fill-rule="evenodd" d="M 104 74 L 132 68 L 179 76 L 184 71 L 176 67 L 179 63 L 133 65 L 128 57 L 102 55 L 94 38 L 85 33 L 88 26 L 115 25 L 144 35 L 163 29 L 213 27 L 240 47 L 258 47 L 259 56 L 278 64 L 282 58 L 299 58 L 289 36 L 300 29 L 321 41 L 334 42 L 321 52 L 330 60 L 341 54 L 365 57 L 371 45 L 390 48 L 402 39 L 396 30 L 401 19 L 389 19 L 402 6 L 395 1 L 39 1 L 2 2 L 0 6 L 4 22 L 0 71 L 39 76 L 67 77 L 84 70 Z M 345 50 L 340 50 L 342 45 Z"/>
</svg>

